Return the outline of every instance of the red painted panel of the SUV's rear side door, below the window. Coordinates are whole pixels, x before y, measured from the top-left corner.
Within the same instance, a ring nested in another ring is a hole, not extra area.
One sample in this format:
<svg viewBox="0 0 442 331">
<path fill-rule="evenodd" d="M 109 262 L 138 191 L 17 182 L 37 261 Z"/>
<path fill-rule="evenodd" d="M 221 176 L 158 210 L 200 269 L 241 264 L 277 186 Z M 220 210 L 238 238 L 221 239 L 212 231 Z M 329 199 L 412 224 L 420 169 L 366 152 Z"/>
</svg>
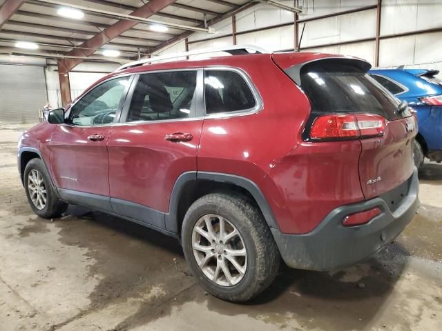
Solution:
<svg viewBox="0 0 442 331">
<path fill-rule="evenodd" d="M 202 119 L 115 126 L 108 141 L 109 185 L 113 198 L 169 212 L 180 174 L 197 170 Z M 191 141 L 166 141 L 166 134 L 190 133 Z"/>
</svg>

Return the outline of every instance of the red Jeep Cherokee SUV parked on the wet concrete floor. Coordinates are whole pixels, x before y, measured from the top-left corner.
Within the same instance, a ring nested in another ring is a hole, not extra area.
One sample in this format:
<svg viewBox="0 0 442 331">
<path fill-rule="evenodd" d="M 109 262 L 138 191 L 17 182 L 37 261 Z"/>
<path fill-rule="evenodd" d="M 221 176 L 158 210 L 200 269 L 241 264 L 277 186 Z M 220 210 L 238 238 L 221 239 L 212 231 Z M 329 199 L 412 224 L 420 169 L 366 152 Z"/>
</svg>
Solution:
<svg viewBox="0 0 442 331">
<path fill-rule="evenodd" d="M 230 52 L 130 63 L 25 132 L 34 212 L 86 205 L 177 237 L 229 301 L 264 290 L 280 258 L 330 270 L 392 241 L 419 208 L 410 108 L 361 59 Z"/>
</svg>

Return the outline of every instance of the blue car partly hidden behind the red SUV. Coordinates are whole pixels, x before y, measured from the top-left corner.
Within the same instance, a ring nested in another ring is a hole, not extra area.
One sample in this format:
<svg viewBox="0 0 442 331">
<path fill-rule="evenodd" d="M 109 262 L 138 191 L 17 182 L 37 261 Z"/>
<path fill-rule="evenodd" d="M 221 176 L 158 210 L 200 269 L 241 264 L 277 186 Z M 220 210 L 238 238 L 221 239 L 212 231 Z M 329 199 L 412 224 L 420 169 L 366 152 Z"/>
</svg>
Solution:
<svg viewBox="0 0 442 331">
<path fill-rule="evenodd" d="M 401 101 L 417 112 L 419 133 L 414 141 L 414 163 L 419 168 L 424 157 L 442 161 L 442 81 L 438 70 L 373 69 L 369 74 Z"/>
</svg>

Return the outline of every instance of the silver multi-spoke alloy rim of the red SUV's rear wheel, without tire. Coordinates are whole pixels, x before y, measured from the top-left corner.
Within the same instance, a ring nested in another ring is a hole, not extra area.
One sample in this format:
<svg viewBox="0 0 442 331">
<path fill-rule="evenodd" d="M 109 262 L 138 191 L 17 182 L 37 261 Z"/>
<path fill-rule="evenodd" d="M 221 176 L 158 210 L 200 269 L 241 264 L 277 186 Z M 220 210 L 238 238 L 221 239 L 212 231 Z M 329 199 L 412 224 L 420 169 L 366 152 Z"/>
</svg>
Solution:
<svg viewBox="0 0 442 331">
<path fill-rule="evenodd" d="M 240 232 L 224 217 L 207 214 L 192 232 L 192 249 L 204 275 L 221 286 L 238 284 L 247 270 L 247 251 Z"/>
</svg>

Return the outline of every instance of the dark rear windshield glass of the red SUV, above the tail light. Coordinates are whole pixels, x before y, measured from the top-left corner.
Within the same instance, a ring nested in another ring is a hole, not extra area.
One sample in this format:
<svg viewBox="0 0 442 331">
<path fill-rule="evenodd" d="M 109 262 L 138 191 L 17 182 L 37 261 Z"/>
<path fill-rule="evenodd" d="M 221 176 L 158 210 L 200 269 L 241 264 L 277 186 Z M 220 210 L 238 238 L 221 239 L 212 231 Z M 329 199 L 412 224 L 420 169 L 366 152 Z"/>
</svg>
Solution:
<svg viewBox="0 0 442 331">
<path fill-rule="evenodd" d="M 312 112 L 368 112 L 389 120 L 411 115 L 408 110 L 397 114 L 400 101 L 349 60 L 307 63 L 300 82 Z"/>
</svg>

